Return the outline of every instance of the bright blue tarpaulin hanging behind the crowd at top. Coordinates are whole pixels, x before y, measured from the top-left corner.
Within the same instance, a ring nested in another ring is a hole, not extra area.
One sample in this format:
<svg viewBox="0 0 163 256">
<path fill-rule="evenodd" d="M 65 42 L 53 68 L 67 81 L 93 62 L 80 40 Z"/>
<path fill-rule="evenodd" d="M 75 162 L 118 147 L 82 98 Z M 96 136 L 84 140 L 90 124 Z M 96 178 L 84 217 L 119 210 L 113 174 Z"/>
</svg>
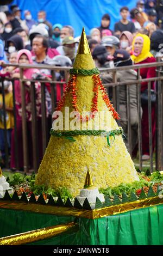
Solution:
<svg viewBox="0 0 163 256">
<path fill-rule="evenodd" d="M 37 20 L 39 10 L 45 10 L 52 25 L 71 25 L 78 36 L 83 26 L 86 34 L 90 34 L 91 28 L 100 26 L 105 13 L 111 16 L 110 28 L 113 29 L 114 23 L 120 19 L 120 8 L 134 8 L 136 0 L 14 0 L 12 4 L 21 8 L 22 17 L 24 10 L 30 10 L 34 20 Z"/>
</svg>

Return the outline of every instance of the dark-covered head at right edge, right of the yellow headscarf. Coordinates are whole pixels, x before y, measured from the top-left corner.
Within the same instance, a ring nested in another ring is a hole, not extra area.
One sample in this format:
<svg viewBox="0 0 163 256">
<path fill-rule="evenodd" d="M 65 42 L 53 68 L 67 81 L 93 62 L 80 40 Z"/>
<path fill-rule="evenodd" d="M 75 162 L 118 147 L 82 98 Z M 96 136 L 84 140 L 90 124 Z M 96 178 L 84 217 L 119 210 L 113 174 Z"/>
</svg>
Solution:
<svg viewBox="0 0 163 256">
<path fill-rule="evenodd" d="M 151 35 L 151 53 L 154 57 L 163 56 L 163 31 L 158 29 Z"/>
</svg>

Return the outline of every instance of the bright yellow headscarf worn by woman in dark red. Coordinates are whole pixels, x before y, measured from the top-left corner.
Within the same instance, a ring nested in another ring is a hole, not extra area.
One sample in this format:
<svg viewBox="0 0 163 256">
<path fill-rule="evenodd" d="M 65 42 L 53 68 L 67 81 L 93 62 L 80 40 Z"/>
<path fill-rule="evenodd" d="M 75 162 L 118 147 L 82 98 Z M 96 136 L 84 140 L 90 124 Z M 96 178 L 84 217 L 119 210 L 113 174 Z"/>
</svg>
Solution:
<svg viewBox="0 0 163 256">
<path fill-rule="evenodd" d="M 135 40 L 138 36 L 141 36 L 141 38 L 143 38 L 143 47 L 142 47 L 141 53 L 138 56 L 135 56 L 135 55 L 131 56 L 131 59 L 134 61 L 134 63 L 139 63 L 147 59 L 148 57 L 153 57 L 152 53 L 150 52 L 151 41 L 147 35 L 143 35 L 139 33 L 135 36 L 133 40 L 133 51 L 134 51 Z"/>
</svg>

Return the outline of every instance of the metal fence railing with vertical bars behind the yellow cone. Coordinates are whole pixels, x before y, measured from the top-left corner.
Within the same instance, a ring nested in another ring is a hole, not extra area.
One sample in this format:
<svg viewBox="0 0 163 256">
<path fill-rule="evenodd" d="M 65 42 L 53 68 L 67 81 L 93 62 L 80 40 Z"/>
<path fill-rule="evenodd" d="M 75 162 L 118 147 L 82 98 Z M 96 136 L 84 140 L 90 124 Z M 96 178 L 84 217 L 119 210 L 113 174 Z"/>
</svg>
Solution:
<svg viewBox="0 0 163 256">
<path fill-rule="evenodd" d="M 8 66 L 8 64 L 4 64 L 4 67 Z M 32 168 L 37 171 L 40 164 L 39 159 L 39 149 L 42 147 L 42 154 L 45 153 L 48 139 L 49 139 L 49 129 L 52 124 L 52 113 L 57 105 L 57 98 L 56 98 L 56 84 L 60 84 L 61 94 L 63 93 L 63 84 L 65 84 L 65 81 L 68 81 L 68 74 L 70 68 L 67 67 L 54 67 L 51 65 L 10 65 L 15 66 L 20 69 L 20 85 L 21 85 L 21 100 L 22 100 L 22 138 L 23 138 L 23 167 L 24 172 L 27 172 L 29 167 L 29 154 L 32 151 L 33 154 L 33 166 Z M 142 68 L 151 68 L 155 67 L 156 69 L 156 76 L 153 78 L 145 78 L 142 79 L 140 76 L 140 69 Z M 26 119 L 26 92 L 24 83 L 26 83 L 27 79 L 24 79 L 23 77 L 23 69 L 29 69 L 29 68 L 36 68 L 36 69 L 48 69 L 51 70 L 52 78 L 51 81 L 49 80 L 39 80 L 41 83 L 41 119 L 37 120 L 36 118 L 36 102 L 35 102 L 35 82 L 37 80 L 30 80 L 30 97 L 32 102 L 32 121 L 31 121 L 31 130 L 32 130 L 32 141 L 30 141 L 28 137 L 28 127 L 27 127 L 27 119 Z M 125 82 L 120 82 L 117 80 L 117 73 L 118 71 L 125 71 L 128 69 L 133 69 L 137 71 L 137 79 L 135 81 L 129 81 L 126 78 Z M 111 100 L 116 108 L 116 111 L 118 112 L 120 108 L 120 87 L 126 86 L 126 97 L 127 97 L 127 121 L 128 121 L 128 141 L 129 141 L 129 148 L 128 150 L 131 152 L 131 144 L 132 144 L 132 135 L 131 135 L 131 125 L 130 125 L 130 90 L 129 88 L 133 86 L 133 84 L 136 84 L 137 87 L 137 133 L 138 133 L 138 156 L 139 156 L 139 168 L 142 169 L 143 162 L 142 162 L 142 113 L 141 113 L 141 83 L 147 82 L 148 86 L 148 129 L 149 129 L 149 155 L 150 155 L 150 169 L 151 172 L 154 170 L 153 164 L 155 162 L 155 169 L 161 170 L 163 167 L 163 112 L 162 112 L 162 103 L 163 103 L 163 62 L 156 62 L 156 63 L 150 63 L 150 64 L 141 64 L 141 65 L 133 65 L 133 66 L 124 66 L 120 68 L 114 68 L 114 69 L 108 69 L 108 68 L 101 68 L 101 76 L 106 73 L 113 74 L 113 80 L 111 83 L 105 83 L 104 86 L 109 92 L 111 92 Z M 64 72 L 65 81 L 57 81 L 55 78 L 55 71 Z M 15 144 L 15 162 L 16 162 L 16 168 L 19 168 L 18 166 L 18 149 L 17 149 L 17 122 L 16 122 L 16 106 L 15 106 L 15 86 L 14 86 L 14 79 L 11 78 L 2 78 L 2 96 L 3 96 L 3 120 L 4 120 L 4 141 L 5 141 L 5 166 L 9 167 L 9 152 L 8 152 L 8 139 L 7 139 L 7 126 L 5 117 L 7 114 L 7 111 L 5 109 L 5 93 L 4 93 L 4 80 L 9 80 L 12 82 L 12 95 L 13 95 L 13 101 L 14 101 L 14 144 Z M 155 102 L 155 118 L 156 118 L 156 129 L 155 129 L 155 149 L 153 150 L 153 143 L 152 143 L 152 103 L 151 103 L 151 84 L 154 81 L 155 83 L 155 92 L 156 92 L 156 102 Z M 49 117 L 47 118 L 46 115 L 46 83 L 50 85 L 51 88 L 51 101 L 52 101 L 52 113 L 49 114 Z M 121 125 L 121 121 L 120 121 Z M 41 139 L 40 139 L 40 133 L 39 129 L 41 130 Z M 41 146 L 40 146 L 41 141 Z M 55 145 L 54 145 L 55 147 Z M 153 154 L 154 153 L 154 154 Z M 155 159 L 153 159 L 153 155 L 155 155 Z"/>
</svg>

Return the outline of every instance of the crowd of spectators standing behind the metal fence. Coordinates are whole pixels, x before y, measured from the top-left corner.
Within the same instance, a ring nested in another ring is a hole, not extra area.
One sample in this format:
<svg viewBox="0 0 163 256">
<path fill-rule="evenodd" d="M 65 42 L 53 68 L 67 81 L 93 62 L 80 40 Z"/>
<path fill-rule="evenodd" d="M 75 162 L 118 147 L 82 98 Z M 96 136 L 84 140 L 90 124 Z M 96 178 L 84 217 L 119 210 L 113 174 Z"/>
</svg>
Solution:
<svg viewBox="0 0 163 256">
<path fill-rule="evenodd" d="M 160 1 L 161 2 L 161 1 Z M 121 20 L 115 23 L 114 30 L 110 29 L 110 15 L 102 16 L 101 25 L 92 28 L 87 35 L 90 51 L 98 68 L 112 68 L 114 66 L 130 66 L 133 64 L 154 63 L 156 57 L 162 56 L 163 51 L 160 45 L 163 44 L 162 16 L 163 1 L 157 9 L 156 1 L 138 1 L 136 7 L 129 11 L 128 7 L 120 9 Z M 0 64 L 45 64 L 55 66 L 72 66 L 77 53 L 80 38 L 74 37 L 74 29 L 70 25 L 62 26 L 60 23 L 52 25 L 47 19 L 48 14 L 41 10 L 37 14 L 35 21 L 30 10 L 24 11 L 25 19 L 21 19 L 21 10 L 17 5 L 12 5 L 0 9 Z M 6 9 L 5 9 L 6 8 Z M 47 16 L 47 17 L 46 17 Z M 22 99 L 19 69 L 13 66 L 1 68 L 0 76 L 4 81 L 6 127 L 8 146 L 11 154 L 11 168 L 16 168 L 15 145 L 14 145 L 14 115 L 12 84 L 5 81 L 7 78 L 15 78 L 15 106 L 16 106 L 16 127 L 18 135 L 19 167 L 23 169 L 22 154 Z M 140 69 L 142 78 L 152 78 L 156 76 L 156 69 Z M 30 95 L 30 80 L 35 82 L 37 122 L 41 122 L 41 84 L 39 80 L 52 80 L 49 69 L 23 69 L 23 77 L 29 81 L 25 83 L 26 88 L 26 117 L 29 137 L 32 136 L 32 102 Z M 64 74 L 55 72 L 58 81 L 65 81 Z M 113 81 L 111 72 L 102 73 L 103 83 Z M 117 71 L 117 80 L 121 82 L 135 81 L 137 72 L 133 69 Z M 155 90 L 155 82 L 151 83 L 151 89 Z M 147 82 L 141 84 L 141 93 L 147 90 Z M 65 84 L 63 86 L 65 90 Z M 138 113 L 137 113 L 137 86 L 136 83 L 129 88 L 130 91 L 130 125 L 132 145 L 131 152 L 136 155 Z M 51 87 L 46 83 L 45 87 L 47 118 L 52 115 Z M 111 95 L 109 95 L 111 97 Z M 61 90 L 57 86 L 57 101 L 60 100 Z M 121 126 L 126 134 L 126 145 L 128 144 L 128 119 L 127 119 L 127 94 L 126 86 L 120 87 L 120 116 Z M 148 103 L 142 101 L 142 160 L 149 159 L 149 132 L 148 132 Z M 155 102 L 152 102 L 152 135 L 153 150 L 155 137 Z M 41 147 L 40 147 L 41 148 Z M 4 161 L 4 116 L 3 116 L 3 96 L 2 83 L 0 84 L 0 150 Z M 41 159 L 41 153 L 40 153 Z M 33 168 L 32 157 L 30 167 Z"/>
</svg>

